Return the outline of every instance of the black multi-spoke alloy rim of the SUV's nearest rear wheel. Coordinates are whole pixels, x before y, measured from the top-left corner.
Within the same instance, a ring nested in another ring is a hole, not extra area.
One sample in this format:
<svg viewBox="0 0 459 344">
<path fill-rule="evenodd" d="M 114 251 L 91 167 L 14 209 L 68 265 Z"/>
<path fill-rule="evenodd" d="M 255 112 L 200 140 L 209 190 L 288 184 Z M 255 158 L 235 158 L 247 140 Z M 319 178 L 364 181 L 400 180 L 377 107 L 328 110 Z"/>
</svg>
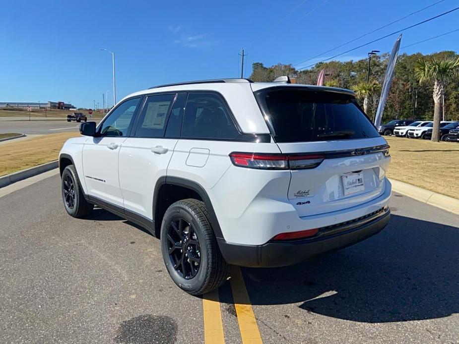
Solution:
<svg viewBox="0 0 459 344">
<path fill-rule="evenodd" d="M 167 248 L 169 259 L 180 276 L 189 280 L 199 271 L 201 253 L 199 240 L 192 224 L 182 218 L 175 218 L 167 227 Z"/>
</svg>

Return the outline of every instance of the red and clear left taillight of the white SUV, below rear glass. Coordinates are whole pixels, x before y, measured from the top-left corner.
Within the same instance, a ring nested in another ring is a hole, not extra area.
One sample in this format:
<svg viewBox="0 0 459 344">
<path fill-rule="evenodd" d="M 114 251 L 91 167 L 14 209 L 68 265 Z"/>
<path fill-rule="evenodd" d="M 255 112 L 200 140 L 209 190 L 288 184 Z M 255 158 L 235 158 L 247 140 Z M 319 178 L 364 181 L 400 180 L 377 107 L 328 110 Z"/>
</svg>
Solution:
<svg viewBox="0 0 459 344">
<path fill-rule="evenodd" d="M 264 154 L 238 153 L 230 154 L 235 166 L 259 170 L 300 170 L 318 167 L 325 159 L 321 154 Z"/>
</svg>

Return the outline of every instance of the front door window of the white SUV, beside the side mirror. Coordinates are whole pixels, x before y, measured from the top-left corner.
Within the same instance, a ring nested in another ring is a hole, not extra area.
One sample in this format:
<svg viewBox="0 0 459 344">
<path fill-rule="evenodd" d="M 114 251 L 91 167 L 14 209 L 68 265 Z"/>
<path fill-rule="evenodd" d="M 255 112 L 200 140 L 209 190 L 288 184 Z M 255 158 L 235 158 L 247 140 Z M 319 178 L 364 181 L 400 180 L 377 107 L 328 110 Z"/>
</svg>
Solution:
<svg viewBox="0 0 459 344">
<path fill-rule="evenodd" d="M 141 98 L 133 98 L 120 104 L 102 123 L 100 136 L 126 136 L 131 130 L 135 110 Z"/>
</svg>

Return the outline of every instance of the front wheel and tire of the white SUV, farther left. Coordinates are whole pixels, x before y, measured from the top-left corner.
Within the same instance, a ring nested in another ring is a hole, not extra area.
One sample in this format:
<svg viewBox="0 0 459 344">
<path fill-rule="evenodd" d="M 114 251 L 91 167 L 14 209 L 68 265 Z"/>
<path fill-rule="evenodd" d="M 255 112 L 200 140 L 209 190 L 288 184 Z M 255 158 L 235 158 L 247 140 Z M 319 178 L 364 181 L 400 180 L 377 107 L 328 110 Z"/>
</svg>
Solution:
<svg viewBox="0 0 459 344">
<path fill-rule="evenodd" d="M 73 192 L 71 192 L 73 190 Z M 64 207 L 68 215 L 74 218 L 84 218 L 94 209 L 94 205 L 84 199 L 78 174 L 73 165 L 68 165 L 62 172 L 61 193 Z M 68 194 L 70 193 L 70 195 Z M 73 198 L 72 198 L 73 196 Z"/>
</svg>

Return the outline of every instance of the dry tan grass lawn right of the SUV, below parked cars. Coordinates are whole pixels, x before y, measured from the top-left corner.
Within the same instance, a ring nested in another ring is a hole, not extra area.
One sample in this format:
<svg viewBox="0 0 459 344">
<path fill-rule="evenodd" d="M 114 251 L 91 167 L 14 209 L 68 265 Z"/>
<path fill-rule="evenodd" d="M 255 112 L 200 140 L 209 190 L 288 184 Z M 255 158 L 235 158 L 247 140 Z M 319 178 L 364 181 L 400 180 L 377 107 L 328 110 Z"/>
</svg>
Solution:
<svg viewBox="0 0 459 344">
<path fill-rule="evenodd" d="M 459 143 L 385 138 L 391 145 L 390 178 L 459 198 Z"/>
</svg>

